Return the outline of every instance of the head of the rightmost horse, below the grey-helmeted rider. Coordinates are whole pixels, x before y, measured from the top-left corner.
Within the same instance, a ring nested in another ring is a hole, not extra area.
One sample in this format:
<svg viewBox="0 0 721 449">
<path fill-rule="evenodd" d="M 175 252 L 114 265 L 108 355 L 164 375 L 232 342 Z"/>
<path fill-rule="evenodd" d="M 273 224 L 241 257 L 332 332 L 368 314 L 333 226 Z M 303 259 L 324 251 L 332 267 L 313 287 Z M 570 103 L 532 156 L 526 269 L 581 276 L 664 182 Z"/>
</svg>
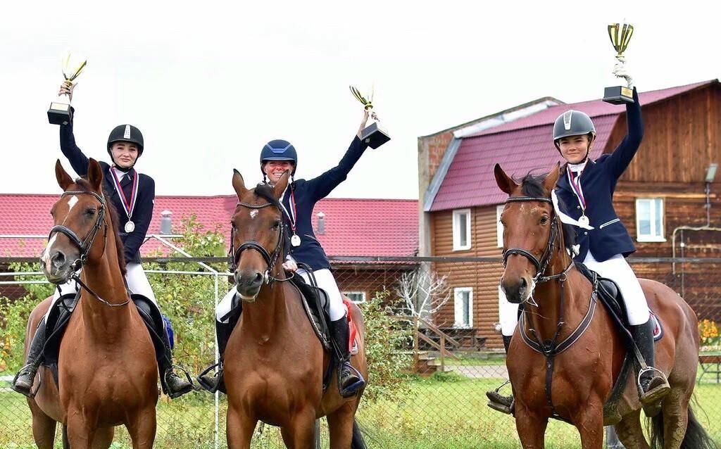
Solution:
<svg viewBox="0 0 721 449">
<path fill-rule="evenodd" d="M 500 218 L 505 265 L 500 287 L 508 301 L 523 303 L 532 298 L 554 252 L 563 247 L 562 226 L 551 199 L 560 169 L 556 164 L 549 174 L 528 175 L 520 183 L 499 164 L 494 173 L 498 187 L 508 194 Z"/>
</svg>

